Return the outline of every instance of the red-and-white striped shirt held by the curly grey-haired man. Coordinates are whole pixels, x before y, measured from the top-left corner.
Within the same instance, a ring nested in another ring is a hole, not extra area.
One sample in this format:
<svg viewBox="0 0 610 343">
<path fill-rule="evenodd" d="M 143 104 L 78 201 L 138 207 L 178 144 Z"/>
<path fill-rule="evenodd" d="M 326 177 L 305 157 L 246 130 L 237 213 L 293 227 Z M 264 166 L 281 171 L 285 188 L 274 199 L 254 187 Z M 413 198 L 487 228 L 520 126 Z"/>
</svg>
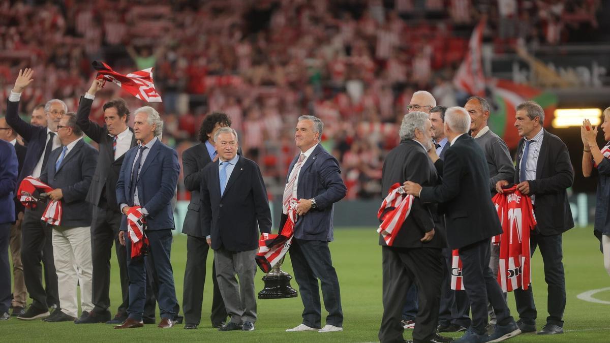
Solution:
<svg viewBox="0 0 610 343">
<path fill-rule="evenodd" d="M 387 197 L 381 203 L 377 212 L 377 218 L 381 220 L 381 225 L 377 232 L 381 234 L 386 244 L 391 247 L 398 231 L 403 226 L 404 220 L 411 213 L 411 204 L 414 197 L 404 193 L 400 183 L 395 183 L 390 187 Z"/>
</svg>

